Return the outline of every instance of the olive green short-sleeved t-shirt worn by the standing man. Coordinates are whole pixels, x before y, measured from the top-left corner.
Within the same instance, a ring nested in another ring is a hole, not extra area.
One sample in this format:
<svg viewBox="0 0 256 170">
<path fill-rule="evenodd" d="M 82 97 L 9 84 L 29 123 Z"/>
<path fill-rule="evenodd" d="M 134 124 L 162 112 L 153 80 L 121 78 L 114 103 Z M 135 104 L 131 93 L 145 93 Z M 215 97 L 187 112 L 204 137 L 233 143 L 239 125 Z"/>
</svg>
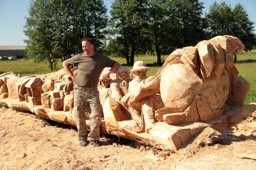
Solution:
<svg viewBox="0 0 256 170">
<path fill-rule="evenodd" d="M 114 63 L 116 61 L 99 53 L 95 53 L 93 56 L 82 53 L 66 60 L 68 66 L 73 64 L 78 66 L 76 85 L 81 87 L 98 86 L 102 70 L 105 67 L 112 67 Z"/>
</svg>

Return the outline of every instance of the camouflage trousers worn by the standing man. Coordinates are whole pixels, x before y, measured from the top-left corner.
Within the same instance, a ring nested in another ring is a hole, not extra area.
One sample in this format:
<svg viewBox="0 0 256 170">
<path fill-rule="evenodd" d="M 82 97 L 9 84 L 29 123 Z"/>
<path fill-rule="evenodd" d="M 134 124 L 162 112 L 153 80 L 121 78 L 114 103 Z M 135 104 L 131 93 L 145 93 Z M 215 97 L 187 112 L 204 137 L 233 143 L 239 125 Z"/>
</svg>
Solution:
<svg viewBox="0 0 256 170">
<path fill-rule="evenodd" d="M 90 114 L 90 133 L 88 135 L 85 119 L 85 108 L 88 105 Z M 99 91 L 96 90 L 74 90 L 74 115 L 76 117 L 76 127 L 78 129 L 78 140 L 90 142 L 98 141 L 100 137 L 100 98 Z"/>
</svg>

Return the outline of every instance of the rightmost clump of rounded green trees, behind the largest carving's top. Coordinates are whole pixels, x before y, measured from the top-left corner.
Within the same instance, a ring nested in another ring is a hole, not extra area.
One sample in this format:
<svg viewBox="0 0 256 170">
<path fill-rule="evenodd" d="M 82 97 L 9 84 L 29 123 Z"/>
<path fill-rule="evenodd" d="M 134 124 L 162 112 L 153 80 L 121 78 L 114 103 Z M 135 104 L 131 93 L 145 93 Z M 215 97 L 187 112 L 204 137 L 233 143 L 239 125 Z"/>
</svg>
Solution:
<svg viewBox="0 0 256 170">
<path fill-rule="evenodd" d="M 254 23 L 249 20 L 246 10 L 240 3 L 232 9 L 225 2 L 221 4 L 214 2 L 205 17 L 208 24 L 208 29 L 206 29 L 208 39 L 217 35 L 232 35 L 244 43 L 245 51 L 253 49 Z M 234 61 L 236 61 L 236 55 Z"/>
</svg>

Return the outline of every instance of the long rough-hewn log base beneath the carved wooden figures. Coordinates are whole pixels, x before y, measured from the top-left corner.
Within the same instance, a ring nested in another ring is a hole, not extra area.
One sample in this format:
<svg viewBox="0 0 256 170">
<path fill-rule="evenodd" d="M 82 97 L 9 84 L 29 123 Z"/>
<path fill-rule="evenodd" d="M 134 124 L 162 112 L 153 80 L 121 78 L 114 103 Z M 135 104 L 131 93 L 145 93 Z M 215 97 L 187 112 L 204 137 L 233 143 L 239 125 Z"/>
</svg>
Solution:
<svg viewBox="0 0 256 170">
<path fill-rule="evenodd" d="M 30 111 L 44 119 L 76 126 L 76 119 L 71 111 L 54 111 L 42 105 L 35 106 L 26 101 L 20 102 L 19 99 L 10 98 L 2 99 L 1 104 L 18 111 Z M 184 145 L 189 139 L 201 133 L 206 127 L 210 127 L 222 133 L 246 119 L 254 111 L 256 111 L 256 103 L 232 107 L 225 105 L 222 115 L 211 121 L 204 123 L 184 123 L 180 125 L 169 125 L 165 122 L 157 122 L 154 124 L 153 128 L 150 129 L 149 133 L 136 132 L 138 129 L 133 119 L 116 122 L 113 117 L 112 121 L 108 120 L 111 123 L 107 123 L 104 120 L 101 121 L 101 133 L 108 133 L 110 135 L 138 141 L 150 147 L 177 152 L 181 145 Z M 89 120 L 87 121 L 88 128 L 90 129 Z M 214 138 L 214 141 L 217 139 L 218 137 Z"/>
</svg>

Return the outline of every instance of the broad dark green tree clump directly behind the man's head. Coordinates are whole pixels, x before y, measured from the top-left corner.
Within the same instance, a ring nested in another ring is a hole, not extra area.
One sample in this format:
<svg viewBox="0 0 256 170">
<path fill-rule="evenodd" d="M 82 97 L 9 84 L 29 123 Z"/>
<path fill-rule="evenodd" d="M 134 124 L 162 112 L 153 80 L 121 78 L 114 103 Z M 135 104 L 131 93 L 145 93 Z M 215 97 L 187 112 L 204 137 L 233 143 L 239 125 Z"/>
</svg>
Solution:
<svg viewBox="0 0 256 170">
<path fill-rule="evenodd" d="M 80 40 L 84 37 L 94 39 L 96 51 L 104 45 L 105 29 L 108 23 L 107 9 L 103 0 L 56 1 L 54 19 L 56 22 L 56 53 L 70 55 L 74 51 L 82 51 Z M 59 2 L 58 2 L 59 1 Z"/>
</svg>

